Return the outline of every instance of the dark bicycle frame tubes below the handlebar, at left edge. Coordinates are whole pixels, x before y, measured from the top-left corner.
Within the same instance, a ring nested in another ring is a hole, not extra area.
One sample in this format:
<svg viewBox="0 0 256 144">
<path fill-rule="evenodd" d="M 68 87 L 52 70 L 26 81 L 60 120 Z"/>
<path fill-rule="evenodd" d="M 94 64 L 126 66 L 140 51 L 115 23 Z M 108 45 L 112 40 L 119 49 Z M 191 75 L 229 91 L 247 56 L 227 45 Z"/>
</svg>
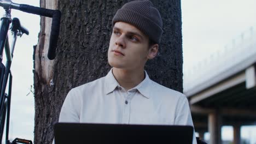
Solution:
<svg viewBox="0 0 256 144">
<path fill-rule="evenodd" d="M 20 32 L 18 32 L 18 29 L 12 29 L 13 32 L 13 43 L 11 47 L 9 46 L 9 39 L 8 39 L 8 30 L 9 25 L 11 22 L 10 11 L 5 11 L 5 16 L 1 19 L 1 33 L 0 33 L 0 41 L 1 41 L 1 47 L 0 47 L 0 73 L 1 73 L 1 96 L 0 96 L 0 141 L 2 141 L 3 131 L 4 131 L 4 124 L 5 124 L 5 116 L 7 116 L 7 123 L 6 123 L 6 133 L 5 133 L 5 141 L 6 143 L 9 143 L 9 118 L 10 118 L 10 101 L 11 101 L 11 85 L 12 85 L 12 75 L 10 71 L 11 62 L 13 59 L 13 52 L 14 47 L 17 39 L 17 35 L 20 35 Z M 16 20 L 16 19 L 15 19 Z M 13 27 L 18 28 L 19 23 L 13 22 Z M 11 48 L 11 49 L 10 49 Z M 3 49 L 5 49 L 5 55 L 7 58 L 7 61 L 5 65 L 3 65 L 2 57 L 3 57 Z M 9 77 L 9 91 L 8 94 L 5 93 L 5 88 L 7 86 Z M 7 112 L 7 113 L 6 113 Z"/>
</svg>

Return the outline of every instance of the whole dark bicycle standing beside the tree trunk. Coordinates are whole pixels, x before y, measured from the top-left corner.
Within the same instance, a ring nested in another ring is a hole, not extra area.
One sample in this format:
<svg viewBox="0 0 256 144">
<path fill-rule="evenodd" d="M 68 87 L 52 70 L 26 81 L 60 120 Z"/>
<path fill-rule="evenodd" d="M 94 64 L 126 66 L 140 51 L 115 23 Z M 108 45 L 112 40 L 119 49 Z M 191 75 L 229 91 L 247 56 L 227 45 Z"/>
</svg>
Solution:
<svg viewBox="0 0 256 144">
<path fill-rule="evenodd" d="M 13 3 L 10 0 L 0 0 L 0 7 L 3 7 L 5 14 L 1 18 L 0 27 L 0 142 L 2 142 L 5 118 L 6 118 L 6 132 L 5 132 L 5 143 L 32 143 L 31 140 L 16 138 L 13 142 L 9 141 L 9 118 L 10 118 L 10 103 L 11 103 L 11 85 L 12 85 L 12 75 L 10 71 L 11 61 L 13 59 L 13 52 L 16 43 L 17 36 L 22 36 L 22 34 L 29 34 L 26 28 L 22 27 L 18 18 L 11 19 L 11 9 L 17 9 L 24 11 L 26 13 L 36 14 L 40 16 L 53 17 L 53 22 L 51 24 L 50 33 L 50 45 L 48 50 L 48 58 L 50 60 L 54 59 L 56 56 L 56 46 L 57 38 L 59 37 L 60 31 L 60 10 L 44 9 L 39 7 L 34 7 L 27 4 Z M 11 27 L 10 27 L 11 23 Z M 11 29 L 13 34 L 13 43 L 11 47 L 9 46 L 8 39 L 8 29 Z M 11 49 L 10 49 L 11 48 Z M 3 50 L 5 49 L 5 55 L 7 61 L 5 65 L 3 61 Z M 9 79 L 9 89 L 8 94 L 5 93 L 7 87 L 7 82 Z"/>
</svg>

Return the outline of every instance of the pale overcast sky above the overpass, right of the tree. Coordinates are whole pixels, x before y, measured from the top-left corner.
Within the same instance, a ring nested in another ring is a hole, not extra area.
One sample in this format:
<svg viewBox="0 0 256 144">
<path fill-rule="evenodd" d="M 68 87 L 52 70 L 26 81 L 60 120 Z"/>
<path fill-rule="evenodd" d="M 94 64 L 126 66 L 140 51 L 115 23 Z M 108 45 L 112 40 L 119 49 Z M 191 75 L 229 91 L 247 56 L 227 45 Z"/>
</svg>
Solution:
<svg viewBox="0 0 256 144">
<path fill-rule="evenodd" d="M 224 49 L 256 25 L 255 0 L 182 0 L 184 65 Z"/>
</svg>

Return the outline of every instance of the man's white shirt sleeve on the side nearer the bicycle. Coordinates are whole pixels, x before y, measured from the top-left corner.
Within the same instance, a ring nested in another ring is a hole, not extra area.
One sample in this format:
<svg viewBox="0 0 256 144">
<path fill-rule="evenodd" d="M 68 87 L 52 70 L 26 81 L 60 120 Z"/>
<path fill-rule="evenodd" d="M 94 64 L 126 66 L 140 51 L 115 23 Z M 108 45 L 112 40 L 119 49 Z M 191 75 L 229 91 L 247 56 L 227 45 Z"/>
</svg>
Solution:
<svg viewBox="0 0 256 144">
<path fill-rule="evenodd" d="M 75 89 L 71 89 L 62 105 L 59 122 L 79 123 L 81 101 Z"/>
</svg>

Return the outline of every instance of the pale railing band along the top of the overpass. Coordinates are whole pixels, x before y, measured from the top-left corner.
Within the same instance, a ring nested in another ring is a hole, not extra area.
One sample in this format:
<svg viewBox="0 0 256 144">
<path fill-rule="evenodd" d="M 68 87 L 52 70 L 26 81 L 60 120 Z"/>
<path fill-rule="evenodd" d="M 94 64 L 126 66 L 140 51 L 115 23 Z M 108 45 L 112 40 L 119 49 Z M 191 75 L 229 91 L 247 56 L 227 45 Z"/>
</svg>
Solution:
<svg viewBox="0 0 256 144">
<path fill-rule="evenodd" d="M 223 49 L 206 59 L 183 68 L 184 92 L 193 89 L 256 53 L 256 31 L 253 27 L 238 35 Z"/>
</svg>

